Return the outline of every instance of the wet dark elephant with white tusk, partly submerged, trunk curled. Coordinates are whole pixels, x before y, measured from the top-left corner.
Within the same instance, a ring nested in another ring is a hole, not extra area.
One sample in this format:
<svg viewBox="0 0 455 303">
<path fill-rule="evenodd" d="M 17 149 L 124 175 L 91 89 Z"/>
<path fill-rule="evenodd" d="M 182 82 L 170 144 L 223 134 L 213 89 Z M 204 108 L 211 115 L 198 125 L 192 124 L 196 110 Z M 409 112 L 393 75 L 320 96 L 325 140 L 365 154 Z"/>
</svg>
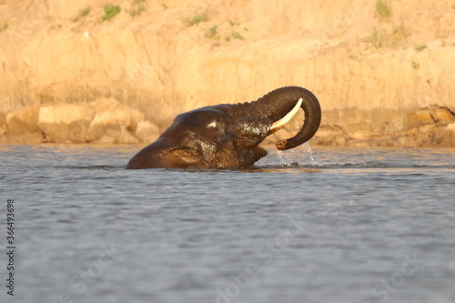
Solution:
<svg viewBox="0 0 455 303">
<path fill-rule="evenodd" d="M 244 168 L 268 155 L 258 145 L 294 116 L 305 112 L 298 133 L 280 140 L 279 150 L 307 142 L 318 131 L 319 101 L 308 89 L 286 86 L 256 101 L 205 106 L 176 116 L 161 136 L 132 157 L 126 169 Z"/>
</svg>

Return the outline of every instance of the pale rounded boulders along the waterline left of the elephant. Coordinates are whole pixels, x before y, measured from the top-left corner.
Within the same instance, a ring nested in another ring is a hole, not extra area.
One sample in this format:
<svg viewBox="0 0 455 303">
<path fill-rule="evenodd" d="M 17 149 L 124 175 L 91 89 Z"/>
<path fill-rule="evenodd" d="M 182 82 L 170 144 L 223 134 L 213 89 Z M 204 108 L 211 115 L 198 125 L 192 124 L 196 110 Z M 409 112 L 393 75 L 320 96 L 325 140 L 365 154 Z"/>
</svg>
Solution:
<svg viewBox="0 0 455 303">
<path fill-rule="evenodd" d="M 157 126 L 144 114 L 109 98 L 25 106 L 8 113 L 2 129 L 0 136 L 15 143 L 149 143 L 158 136 Z"/>
</svg>

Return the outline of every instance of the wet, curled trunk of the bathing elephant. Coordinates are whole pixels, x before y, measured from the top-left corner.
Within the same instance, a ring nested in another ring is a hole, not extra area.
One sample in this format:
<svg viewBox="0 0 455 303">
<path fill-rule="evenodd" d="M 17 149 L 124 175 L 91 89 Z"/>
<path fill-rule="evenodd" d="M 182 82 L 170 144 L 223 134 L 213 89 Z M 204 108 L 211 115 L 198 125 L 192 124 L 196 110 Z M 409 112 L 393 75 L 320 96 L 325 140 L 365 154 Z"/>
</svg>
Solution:
<svg viewBox="0 0 455 303">
<path fill-rule="evenodd" d="M 303 100 L 300 107 L 305 112 L 303 126 L 296 136 L 280 140 L 277 143 L 277 148 L 280 150 L 299 146 L 307 142 L 318 131 L 321 119 L 318 99 L 308 89 L 288 86 L 278 88 L 259 98 L 258 101 L 250 103 L 258 115 L 268 122 L 268 126 L 271 126 L 273 122 L 286 116 L 300 98 Z"/>
</svg>

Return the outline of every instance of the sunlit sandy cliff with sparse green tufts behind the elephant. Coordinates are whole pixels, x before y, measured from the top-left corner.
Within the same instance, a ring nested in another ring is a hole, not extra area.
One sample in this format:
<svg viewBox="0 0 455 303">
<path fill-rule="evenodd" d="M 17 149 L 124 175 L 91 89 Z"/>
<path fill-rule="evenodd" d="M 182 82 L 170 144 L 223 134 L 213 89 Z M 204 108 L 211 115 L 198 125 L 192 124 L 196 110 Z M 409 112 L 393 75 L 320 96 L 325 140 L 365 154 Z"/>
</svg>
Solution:
<svg viewBox="0 0 455 303">
<path fill-rule="evenodd" d="M 183 111 L 304 86 L 316 144 L 455 146 L 452 0 L 107 4 L 0 0 L 2 142 L 148 143 Z"/>
</svg>

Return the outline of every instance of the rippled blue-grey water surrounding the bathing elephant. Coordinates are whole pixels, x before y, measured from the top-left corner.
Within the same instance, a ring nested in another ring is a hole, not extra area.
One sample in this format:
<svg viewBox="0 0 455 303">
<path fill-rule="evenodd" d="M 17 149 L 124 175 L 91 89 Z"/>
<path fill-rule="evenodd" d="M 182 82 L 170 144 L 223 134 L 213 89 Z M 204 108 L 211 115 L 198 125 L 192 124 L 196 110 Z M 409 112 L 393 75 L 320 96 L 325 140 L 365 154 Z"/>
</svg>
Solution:
<svg viewBox="0 0 455 303">
<path fill-rule="evenodd" d="M 2 302 L 455 302 L 453 149 L 124 170 L 138 149 L 0 146 Z"/>
</svg>

